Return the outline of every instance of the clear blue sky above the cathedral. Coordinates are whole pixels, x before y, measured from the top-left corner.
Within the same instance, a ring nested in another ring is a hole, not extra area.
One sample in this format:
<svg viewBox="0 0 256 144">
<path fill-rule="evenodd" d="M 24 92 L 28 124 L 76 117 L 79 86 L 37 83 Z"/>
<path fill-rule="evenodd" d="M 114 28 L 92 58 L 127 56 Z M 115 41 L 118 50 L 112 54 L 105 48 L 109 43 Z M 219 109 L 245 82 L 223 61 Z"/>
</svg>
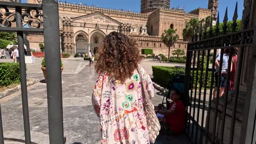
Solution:
<svg viewBox="0 0 256 144">
<path fill-rule="evenodd" d="M 22 0 L 25 2 L 26 0 Z M 65 2 L 65 0 L 59 0 Z M 138 12 L 141 10 L 140 0 L 66 0 L 68 3 L 82 3 L 86 5 L 96 5 L 108 9 L 124 9 Z M 232 20 L 235 4 L 238 2 L 238 19 L 242 18 L 243 0 L 219 0 L 220 22 L 223 21 L 226 7 L 228 7 L 228 18 Z M 171 0 L 171 8 L 184 7 L 185 11 L 190 11 L 198 7 L 208 8 L 208 0 Z"/>
</svg>

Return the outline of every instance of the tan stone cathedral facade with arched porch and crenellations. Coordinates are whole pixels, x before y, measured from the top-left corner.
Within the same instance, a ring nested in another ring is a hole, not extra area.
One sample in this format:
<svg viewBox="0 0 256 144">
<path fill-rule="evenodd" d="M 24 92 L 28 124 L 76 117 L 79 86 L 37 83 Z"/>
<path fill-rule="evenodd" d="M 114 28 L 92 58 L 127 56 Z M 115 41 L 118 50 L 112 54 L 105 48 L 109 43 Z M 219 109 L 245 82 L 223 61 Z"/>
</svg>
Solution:
<svg viewBox="0 0 256 144">
<path fill-rule="evenodd" d="M 200 20 L 211 16 L 211 9 L 218 7 L 218 0 L 209 0 L 208 9 L 197 8 L 186 13 L 184 9 L 170 9 L 170 0 L 158 0 L 160 3 L 165 2 L 162 4 L 164 6 L 155 1 L 150 5 L 151 1 L 153 0 L 141 0 L 141 7 L 144 8 L 141 13 L 59 2 L 60 49 L 72 55 L 88 53 L 89 50 L 95 52 L 104 37 L 116 31 L 136 39 L 139 49 L 153 49 L 156 55 L 168 55 L 168 47 L 162 43 L 161 34 L 165 29 L 173 28 L 177 29 L 179 39 L 171 50 L 186 51 L 188 41 L 184 41 L 182 35 L 185 23 L 192 18 Z M 28 3 L 38 1 L 28 0 Z M 43 35 L 33 34 L 27 38 L 31 49 L 39 50 Z"/>
</svg>

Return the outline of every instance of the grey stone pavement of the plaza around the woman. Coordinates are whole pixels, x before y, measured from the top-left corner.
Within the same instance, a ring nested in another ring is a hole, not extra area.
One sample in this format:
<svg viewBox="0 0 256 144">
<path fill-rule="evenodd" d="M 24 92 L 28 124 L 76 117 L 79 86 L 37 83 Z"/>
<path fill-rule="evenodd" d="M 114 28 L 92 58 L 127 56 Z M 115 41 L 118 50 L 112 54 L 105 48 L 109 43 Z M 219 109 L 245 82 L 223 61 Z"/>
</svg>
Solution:
<svg viewBox="0 0 256 144">
<path fill-rule="evenodd" d="M 27 77 L 43 80 L 40 70 L 40 61 L 36 64 L 27 64 Z M 1 59 L 0 59 L 1 62 Z M 100 124 L 91 105 L 91 94 L 97 74 L 94 67 L 89 67 L 88 61 L 82 59 L 62 59 L 65 70 L 62 73 L 63 95 L 63 123 L 66 143 L 98 143 L 101 139 Z M 142 66 L 150 72 L 150 67 L 155 63 L 142 62 Z M 151 70 L 152 71 L 152 70 Z M 162 101 L 160 93 L 155 92 L 152 99 L 154 105 Z M 16 92 L 0 99 L 3 119 L 4 137 L 25 139 L 22 116 L 21 92 Z M 31 139 L 36 143 L 49 143 L 48 112 L 46 84 L 36 83 L 28 87 L 28 105 L 30 112 Z M 163 137 L 156 143 L 188 143 L 184 136 Z"/>
</svg>

